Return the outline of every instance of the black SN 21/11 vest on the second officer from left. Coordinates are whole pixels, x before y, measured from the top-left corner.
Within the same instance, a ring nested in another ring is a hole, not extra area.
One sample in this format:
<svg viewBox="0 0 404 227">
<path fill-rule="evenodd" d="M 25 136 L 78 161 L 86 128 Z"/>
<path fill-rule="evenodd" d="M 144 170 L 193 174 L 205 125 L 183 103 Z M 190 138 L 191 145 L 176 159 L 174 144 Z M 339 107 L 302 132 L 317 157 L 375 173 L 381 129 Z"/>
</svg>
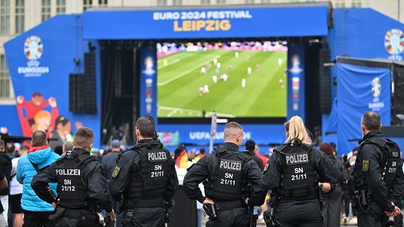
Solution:
<svg viewBox="0 0 404 227">
<path fill-rule="evenodd" d="M 162 197 L 166 191 L 171 171 L 173 171 L 173 158 L 160 142 L 145 143 L 133 152 L 140 154 L 140 171 L 133 171 L 130 174 L 128 187 L 123 193 L 125 206 L 128 208 L 133 208 L 132 202 L 140 198 Z M 148 207 L 159 206 L 160 204 Z"/>
</svg>

